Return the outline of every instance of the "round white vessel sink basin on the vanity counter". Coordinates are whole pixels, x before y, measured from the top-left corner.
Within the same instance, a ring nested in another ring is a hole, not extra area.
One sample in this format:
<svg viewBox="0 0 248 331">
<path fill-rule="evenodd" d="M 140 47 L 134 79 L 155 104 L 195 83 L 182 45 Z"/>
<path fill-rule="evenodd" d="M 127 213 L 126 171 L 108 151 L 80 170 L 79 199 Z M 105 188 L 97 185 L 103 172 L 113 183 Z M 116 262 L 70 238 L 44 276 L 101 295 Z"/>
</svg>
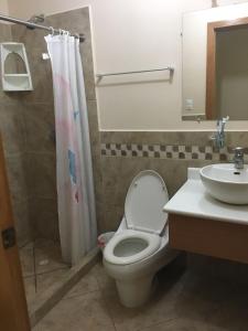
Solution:
<svg viewBox="0 0 248 331">
<path fill-rule="evenodd" d="M 206 191 L 230 204 L 248 204 L 248 166 L 235 169 L 231 163 L 206 166 L 200 171 Z"/>
</svg>

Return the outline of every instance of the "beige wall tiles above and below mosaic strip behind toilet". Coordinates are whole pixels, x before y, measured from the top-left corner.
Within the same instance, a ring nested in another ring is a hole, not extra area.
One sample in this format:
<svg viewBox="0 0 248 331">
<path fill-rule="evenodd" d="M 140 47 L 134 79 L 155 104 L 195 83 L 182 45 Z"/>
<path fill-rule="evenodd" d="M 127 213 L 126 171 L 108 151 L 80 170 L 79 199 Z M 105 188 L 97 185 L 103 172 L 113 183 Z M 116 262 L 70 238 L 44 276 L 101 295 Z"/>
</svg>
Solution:
<svg viewBox="0 0 248 331">
<path fill-rule="evenodd" d="M 188 145 L 206 146 L 211 132 L 100 132 L 105 143 L 147 143 L 147 145 Z M 248 132 L 227 132 L 228 146 L 248 146 Z M 110 231 L 118 226 L 120 210 L 123 210 L 128 188 L 134 175 L 141 170 L 159 172 L 165 181 L 169 195 L 172 196 L 186 181 L 187 168 L 202 168 L 214 161 L 179 160 L 159 158 L 101 157 L 101 217 L 100 228 Z M 115 221 L 116 220 L 116 221 Z"/>
</svg>

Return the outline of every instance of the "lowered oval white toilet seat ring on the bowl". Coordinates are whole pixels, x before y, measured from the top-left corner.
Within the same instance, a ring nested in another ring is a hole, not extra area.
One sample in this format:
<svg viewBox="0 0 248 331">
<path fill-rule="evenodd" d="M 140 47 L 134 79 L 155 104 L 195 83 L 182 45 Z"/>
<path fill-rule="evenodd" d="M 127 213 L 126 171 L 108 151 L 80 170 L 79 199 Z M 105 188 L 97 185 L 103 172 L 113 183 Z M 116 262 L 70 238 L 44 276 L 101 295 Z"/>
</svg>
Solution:
<svg viewBox="0 0 248 331">
<path fill-rule="evenodd" d="M 125 229 L 109 241 L 105 247 L 104 256 L 110 264 L 129 265 L 152 255 L 158 250 L 160 244 L 161 237 L 159 235 Z M 137 247 L 134 247 L 136 245 L 140 246 L 138 247 L 139 252 Z M 126 247 L 128 247 L 128 249 L 126 249 Z"/>
</svg>

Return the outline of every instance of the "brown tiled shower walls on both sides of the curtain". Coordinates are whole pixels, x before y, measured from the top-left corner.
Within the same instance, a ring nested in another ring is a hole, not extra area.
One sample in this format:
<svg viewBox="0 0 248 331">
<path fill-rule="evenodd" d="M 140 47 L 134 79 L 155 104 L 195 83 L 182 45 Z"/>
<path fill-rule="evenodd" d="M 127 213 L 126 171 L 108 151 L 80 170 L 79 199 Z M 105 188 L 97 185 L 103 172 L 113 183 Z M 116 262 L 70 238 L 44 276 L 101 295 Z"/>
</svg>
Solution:
<svg viewBox="0 0 248 331">
<path fill-rule="evenodd" d="M 46 25 L 85 34 L 80 44 L 89 116 L 95 182 L 100 182 L 99 132 L 93 71 L 91 36 L 88 9 L 54 14 Z M 12 32 L 12 33 L 11 33 Z M 12 35 L 11 35 L 12 34 Z M 56 204 L 56 154 L 53 86 L 50 61 L 42 30 L 21 25 L 1 29 L 2 41 L 23 42 L 26 47 L 33 92 L 0 90 L 0 129 L 3 136 L 12 204 L 20 244 L 34 237 L 58 238 Z M 96 193 L 99 192 L 96 186 Z M 99 199 L 97 199 L 98 201 Z"/>
</svg>

